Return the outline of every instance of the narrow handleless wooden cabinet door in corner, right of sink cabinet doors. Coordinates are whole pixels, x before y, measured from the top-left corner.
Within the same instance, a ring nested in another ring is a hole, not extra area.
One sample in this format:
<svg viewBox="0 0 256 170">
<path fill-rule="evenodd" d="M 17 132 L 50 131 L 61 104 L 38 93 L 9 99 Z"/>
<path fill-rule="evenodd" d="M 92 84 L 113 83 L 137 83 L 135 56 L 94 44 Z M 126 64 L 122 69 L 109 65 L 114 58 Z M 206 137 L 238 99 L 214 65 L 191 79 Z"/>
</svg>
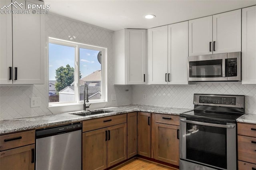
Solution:
<svg viewBox="0 0 256 170">
<path fill-rule="evenodd" d="M 127 158 L 137 154 L 137 112 L 127 114 Z"/>
</svg>

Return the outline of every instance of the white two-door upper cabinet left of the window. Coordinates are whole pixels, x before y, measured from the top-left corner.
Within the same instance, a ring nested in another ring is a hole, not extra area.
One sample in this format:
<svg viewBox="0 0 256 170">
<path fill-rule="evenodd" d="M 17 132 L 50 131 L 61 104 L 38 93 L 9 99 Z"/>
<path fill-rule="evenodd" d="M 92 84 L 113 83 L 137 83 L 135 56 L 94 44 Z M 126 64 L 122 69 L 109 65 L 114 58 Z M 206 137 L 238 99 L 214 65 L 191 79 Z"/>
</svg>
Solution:
<svg viewBox="0 0 256 170">
<path fill-rule="evenodd" d="M 27 10 L 28 4 L 43 4 L 37 0 L 13 0 L 12 2 L 23 4 L 23 7 L 18 10 Z M 1 6 L 3 3 L 8 5 L 10 1 L 1 0 Z M 1 14 L 0 84 L 44 84 L 43 15 L 32 14 L 31 11 L 30 14 L 10 14 L 6 17 Z M 4 28 L 5 24 L 8 29 Z M 2 39 L 2 35 L 5 34 L 6 36 L 3 37 L 7 41 Z M 11 61 L 12 64 L 10 64 Z M 7 65 L 2 67 L 5 63 Z"/>
</svg>

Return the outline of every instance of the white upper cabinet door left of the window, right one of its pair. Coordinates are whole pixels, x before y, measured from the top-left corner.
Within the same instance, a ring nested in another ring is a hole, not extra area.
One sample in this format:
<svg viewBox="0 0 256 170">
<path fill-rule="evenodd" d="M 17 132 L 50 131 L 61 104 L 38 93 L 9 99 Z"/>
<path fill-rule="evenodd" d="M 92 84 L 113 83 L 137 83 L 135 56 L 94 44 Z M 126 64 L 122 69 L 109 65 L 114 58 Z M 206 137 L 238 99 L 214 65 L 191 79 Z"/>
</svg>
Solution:
<svg viewBox="0 0 256 170">
<path fill-rule="evenodd" d="M 43 4 L 41 1 L 32 0 L 12 1 L 24 4 L 23 10 L 28 4 Z M 14 84 L 44 84 L 43 15 L 32 12 L 12 15 Z"/>
</svg>

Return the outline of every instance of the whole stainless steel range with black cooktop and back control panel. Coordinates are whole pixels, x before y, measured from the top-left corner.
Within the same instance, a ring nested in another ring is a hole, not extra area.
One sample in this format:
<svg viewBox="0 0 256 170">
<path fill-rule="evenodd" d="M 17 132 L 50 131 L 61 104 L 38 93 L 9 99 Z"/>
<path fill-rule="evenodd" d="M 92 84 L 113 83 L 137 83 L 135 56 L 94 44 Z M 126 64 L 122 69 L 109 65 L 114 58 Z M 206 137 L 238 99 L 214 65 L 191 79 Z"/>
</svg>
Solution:
<svg viewBox="0 0 256 170">
<path fill-rule="evenodd" d="M 236 119 L 244 95 L 194 94 L 194 111 L 180 115 L 180 170 L 236 170 Z"/>
</svg>

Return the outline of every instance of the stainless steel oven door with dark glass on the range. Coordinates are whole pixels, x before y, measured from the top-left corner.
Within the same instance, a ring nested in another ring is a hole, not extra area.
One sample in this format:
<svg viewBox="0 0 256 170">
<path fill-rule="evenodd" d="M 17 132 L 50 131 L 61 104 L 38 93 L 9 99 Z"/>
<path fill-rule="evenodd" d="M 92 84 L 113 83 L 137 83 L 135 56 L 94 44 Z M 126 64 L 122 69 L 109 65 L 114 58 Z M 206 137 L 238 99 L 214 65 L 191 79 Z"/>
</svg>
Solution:
<svg viewBox="0 0 256 170">
<path fill-rule="evenodd" d="M 236 170 L 236 124 L 181 117 L 180 159 L 180 170 Z"/>
</svg>

